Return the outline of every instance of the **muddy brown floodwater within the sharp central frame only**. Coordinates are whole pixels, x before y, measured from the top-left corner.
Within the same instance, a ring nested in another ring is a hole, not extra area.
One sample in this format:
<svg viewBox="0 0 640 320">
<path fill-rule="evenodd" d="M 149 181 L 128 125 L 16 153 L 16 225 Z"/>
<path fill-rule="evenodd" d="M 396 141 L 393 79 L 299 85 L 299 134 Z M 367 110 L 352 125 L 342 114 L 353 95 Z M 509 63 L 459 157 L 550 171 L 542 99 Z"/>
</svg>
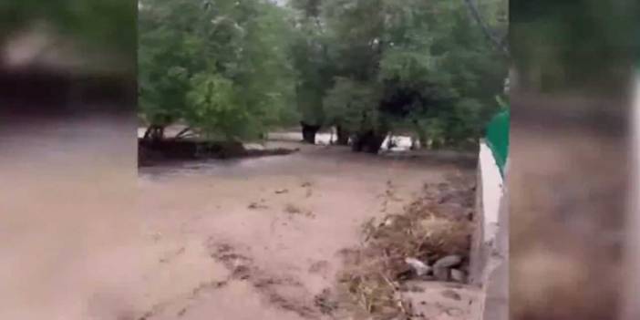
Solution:
<svg viewBox="0 0 640 320">
<path fill-rule="evenodd" d="M 334 284 L 338 253 L 361 241 L 361 225 L 460 170 L 469 169 L 313 146 L 142 169 L 140 218 L 157 256 L 139 310 L 146 319 L 325 318 L 315 296 Z"/>
</svg>

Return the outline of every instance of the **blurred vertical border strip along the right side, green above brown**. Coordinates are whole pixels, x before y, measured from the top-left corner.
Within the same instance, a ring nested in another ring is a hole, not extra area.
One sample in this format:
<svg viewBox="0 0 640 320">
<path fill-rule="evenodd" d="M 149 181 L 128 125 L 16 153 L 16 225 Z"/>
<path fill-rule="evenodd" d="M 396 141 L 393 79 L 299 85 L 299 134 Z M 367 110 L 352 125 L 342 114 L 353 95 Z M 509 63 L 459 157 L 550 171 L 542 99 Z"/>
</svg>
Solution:
<svg viewBox="0 0 640 320">
<path fill-rule="evenodd" d="M 505 319 L 619 318 L 639 5 L 511 0 Z"/>
</svg>

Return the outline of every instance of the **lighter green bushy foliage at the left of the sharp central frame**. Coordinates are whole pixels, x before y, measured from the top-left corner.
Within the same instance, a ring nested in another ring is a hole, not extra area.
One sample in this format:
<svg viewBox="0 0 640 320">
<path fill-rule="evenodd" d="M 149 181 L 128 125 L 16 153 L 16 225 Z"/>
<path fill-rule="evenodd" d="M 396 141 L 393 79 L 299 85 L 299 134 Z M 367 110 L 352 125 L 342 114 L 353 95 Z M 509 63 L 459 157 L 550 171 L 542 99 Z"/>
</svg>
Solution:
<svg viewBox="0 0 640 320">
<path fill-rule="evenodd" d="M 145 0 L 139 108 L 210 138 L 253 139 L 296 118 L 288 12 L 263 0 Z"/>
</svg>

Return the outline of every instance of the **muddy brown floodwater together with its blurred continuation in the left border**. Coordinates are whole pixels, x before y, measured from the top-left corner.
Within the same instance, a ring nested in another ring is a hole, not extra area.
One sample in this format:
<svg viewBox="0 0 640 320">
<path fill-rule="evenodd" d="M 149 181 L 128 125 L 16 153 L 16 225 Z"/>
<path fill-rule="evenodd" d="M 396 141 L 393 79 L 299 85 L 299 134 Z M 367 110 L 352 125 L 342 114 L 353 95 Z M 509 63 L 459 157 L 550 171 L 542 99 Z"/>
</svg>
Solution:
<svg viewBox="0 0 640 320">
<path fill-rule="evenodd" d="M 60 160 L 29 191 L 5 184 L 7 200 L 24 201 L 5 208 L 20 214 L 3 223 L 0 318 L 328 319 L 316 297 L 335 284 L 338 253 L 361 243 L 363 223 L 401 212 L 424 183 L 473 172 L 448 160 L 268 144 L 301 150 L 141 168 L 130 188 L 129 172 L 112 166 L 116 152 L 97 159 L 103 170 Z M 73 184 L 64 170 L 84 180 Z"/>
</svg>

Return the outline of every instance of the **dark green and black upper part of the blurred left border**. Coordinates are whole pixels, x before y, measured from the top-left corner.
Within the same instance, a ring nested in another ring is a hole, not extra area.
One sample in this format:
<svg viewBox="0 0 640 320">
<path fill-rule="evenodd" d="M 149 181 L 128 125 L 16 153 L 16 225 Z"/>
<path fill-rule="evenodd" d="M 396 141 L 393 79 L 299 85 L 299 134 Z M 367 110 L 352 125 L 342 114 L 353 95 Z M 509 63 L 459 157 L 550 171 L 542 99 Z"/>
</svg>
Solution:
<svg viewBox="0 0 640 320">
<path fill-rule="evenodd" d="M 134 117 L 137 13 L 137 2 L 129 0 L 1 4 L 3 118 L 83 112 Z"/>
</svg>

